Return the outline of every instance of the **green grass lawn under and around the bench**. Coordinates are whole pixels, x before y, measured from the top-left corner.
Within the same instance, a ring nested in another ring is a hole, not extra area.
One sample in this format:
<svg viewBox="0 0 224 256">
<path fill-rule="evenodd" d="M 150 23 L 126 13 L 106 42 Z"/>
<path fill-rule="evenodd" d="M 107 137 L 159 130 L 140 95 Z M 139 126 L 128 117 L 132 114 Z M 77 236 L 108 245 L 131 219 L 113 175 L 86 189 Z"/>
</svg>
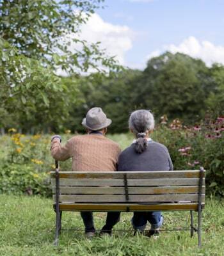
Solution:
<svg viewBox="0 0 224 256">
<path fill-rule="evenodd" d="M 114 232 L 112 237 L 88 240 L 83 232 L 62 232 L 55 248 L 52 200 L 40 196 L 0 195 L 0 255 L 224 255 L 224 200 L 208 198 L 203 212 L 202 248 L 196 234 L 161 232 L 157 240 L 143 235 Z M 131 229 L 131 213 L 122 213 L 115 229 Z M 189 212 L 164 212 L 164 228 L 189 225 Z M 101 228 L 105 213 L 95 212 Z M 195 213 L 196 220 L 196 213 Z M 79 212 L 63 212 L 63 228 L 83 228 Z M 147 227 L 149 228 L 149 227 Z"/>
</svg>

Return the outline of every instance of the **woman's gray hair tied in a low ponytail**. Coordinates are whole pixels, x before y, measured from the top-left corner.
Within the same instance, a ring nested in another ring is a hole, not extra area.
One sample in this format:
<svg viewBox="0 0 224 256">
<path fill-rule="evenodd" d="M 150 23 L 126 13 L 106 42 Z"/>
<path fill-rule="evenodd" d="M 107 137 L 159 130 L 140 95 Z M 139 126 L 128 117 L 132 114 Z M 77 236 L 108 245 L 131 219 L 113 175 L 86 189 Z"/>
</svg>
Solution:
<svg viewBox="0 0 224 256">
<path fill-rule="evenodd" d="M 136 135 L 134 149 L 138 154 L 143 153 L 148 147 L 146 134 L 154 129 L 154 116 L 145 109 L 136 110 L 129 117 L 129 129 Z"/>
</svg>

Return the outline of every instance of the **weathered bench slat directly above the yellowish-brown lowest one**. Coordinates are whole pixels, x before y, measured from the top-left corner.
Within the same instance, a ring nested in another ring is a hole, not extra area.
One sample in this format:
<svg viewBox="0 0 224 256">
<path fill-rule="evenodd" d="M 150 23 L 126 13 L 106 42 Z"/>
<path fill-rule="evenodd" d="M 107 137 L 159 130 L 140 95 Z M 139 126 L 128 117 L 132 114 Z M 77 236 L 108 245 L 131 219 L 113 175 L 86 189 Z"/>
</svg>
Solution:
<svg viewBox="0 0 224 256">
<path fill-rule="evenodd" d="M 53 195 L 55 202 L 56 196 Z M 126 202 L 125 195 L 60 195 L 60 202 Z M 197 194 L 168 194 L 168 195 L 129 195 L 129 202 L 198 202 Z M 202 202 L 205 194 L 202 194 Z"/>
</svg>

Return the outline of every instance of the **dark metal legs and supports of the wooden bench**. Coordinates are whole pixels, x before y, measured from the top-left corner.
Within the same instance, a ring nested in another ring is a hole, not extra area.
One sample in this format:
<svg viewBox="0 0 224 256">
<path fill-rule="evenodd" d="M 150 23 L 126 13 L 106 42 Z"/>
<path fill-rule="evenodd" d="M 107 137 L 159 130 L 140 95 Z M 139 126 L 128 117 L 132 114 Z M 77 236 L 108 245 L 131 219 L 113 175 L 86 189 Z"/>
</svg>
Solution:
<svg viewBox="0 0 224 256">
<path fill-rule="evenodd" d="M 58 161 L 55 161 L 56 168 L 55 168 L 55 179 L 56 179 L 56 204 L 54 205 L 54 211 L 56 212 L 56 228 L 55 228 L 55 239 L 54 239 L 54 246 L 58 246 L 59 243 L 59 236 L 61 232 L 61 216 L 62 211 L 60 211 L 60 175 L 59 175 L 59 164 Z M 180 230 L 189 230 L 191 237 L 193 237 L 194 232 L 197 232 L 198 234 L 198 247 L 202 245 L 202 239 L 201 239 L 201 225 L 202 225 L 202 209 L 204 208 L 204 205 L 202 205 L 202 184 L 203 184 L 203 177 L 204 177 L 205 170 L 203 167 L 200 167 L 200 177 L 199 177 L 199 184 L 198 184 L 198 209 L 196 210 L 198 212 L 198 225 L 197 227 L 194 226 L 194 219 L 193 219 L 193 210 L 190 210 L 190 216 L 191 216 L 191 226 L 189 229 L 166 229 L 163 231 L 180 231 Z M 125 186 L 125 198 L 128 202 L 129 200 L 129 193 L 128 193 L 128 187 L 127 187 L 127 177 L 124 175 L 124 186 Z M 156 205 L 156 204 L 154 204 Z M 159 204 L 158 204 L 159 205 Z M 79 210 L 71 210 L 71 211 L 79 211 Z M 93 210 L 94 211 L 94 210 Z M 108 210 L 107 210 L 108 211 Z M 119 211 L 119 210 L 118 210 Z M 138 211 L 138 210 L 134 210 Z M 161 210 L 157 210 L 161 211 Z M 162 210 L 163 211 L 163 210 Z M 179 209 L 175 211 L 180 211 Z M 184 211 L 184 210 L 182 210 Z M 189 211 L 189 210 L 185 210 Z M 126 212 L 129 212 L 129 207 L 127 207 Z M 122 231 L 129 231 L 129 230 L 122 230 Z"/>
</svg>

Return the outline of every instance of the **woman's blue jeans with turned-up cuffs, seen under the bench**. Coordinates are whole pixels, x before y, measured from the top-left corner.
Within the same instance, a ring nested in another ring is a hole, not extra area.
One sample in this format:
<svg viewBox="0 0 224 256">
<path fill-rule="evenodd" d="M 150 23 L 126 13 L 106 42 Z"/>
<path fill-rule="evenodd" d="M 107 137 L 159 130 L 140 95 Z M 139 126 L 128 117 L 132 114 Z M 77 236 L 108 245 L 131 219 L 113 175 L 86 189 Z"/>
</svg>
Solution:
<svg viewBox="0 0 224 256">
<path fill-rule="evenodd" d="M 143 231 L 147 225 L 151 224 L 151 229 L 155 230 L 163 224 L 161 212 L 134 212 L 131 223 L 135 230 Z"/>
</svg>

